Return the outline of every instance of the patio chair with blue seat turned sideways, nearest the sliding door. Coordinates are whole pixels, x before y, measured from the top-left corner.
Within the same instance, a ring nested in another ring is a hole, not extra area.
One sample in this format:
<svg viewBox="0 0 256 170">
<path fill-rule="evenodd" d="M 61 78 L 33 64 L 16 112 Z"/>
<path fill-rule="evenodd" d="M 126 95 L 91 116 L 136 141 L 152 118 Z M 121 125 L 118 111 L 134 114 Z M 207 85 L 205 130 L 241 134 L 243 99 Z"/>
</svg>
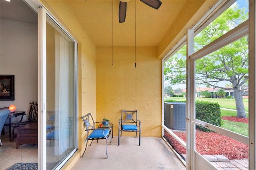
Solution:
<svg viewBox="0 0 256 170">
<path fill-rule="evenodd" d="M 85 116 L 82 116 L 82 119 L 84 121 L 84 125 L 85 125 L 85 131 L 86 131 L 86 139 L 84 141 L 84 143 L 86 142 L 86 147 L 84 149 L 84 153 L 86 151 L 86 148 L 88 146 L 88 141 L 91 140 L 98 140 L 100 139 L 106 139 L 106 155 L 108 158 L 108 152 L 107 152 L 107 143 L 108 143 L 108 138 L 110 138 L 110 145 L 111 145 L 111 128 L 108 125 L 108 128 L 103 129 L 103 128 L 95 128 L 97 123 L 102 123 L 102 121 L 99 122 L 94 122 L 91 113 L 88 113 Z M 92 142 L 90 143 L 90 146 L 92 145 Z M 82 157 L 84 156 L 84 153 L 82 155 Z"/>
</svg>

